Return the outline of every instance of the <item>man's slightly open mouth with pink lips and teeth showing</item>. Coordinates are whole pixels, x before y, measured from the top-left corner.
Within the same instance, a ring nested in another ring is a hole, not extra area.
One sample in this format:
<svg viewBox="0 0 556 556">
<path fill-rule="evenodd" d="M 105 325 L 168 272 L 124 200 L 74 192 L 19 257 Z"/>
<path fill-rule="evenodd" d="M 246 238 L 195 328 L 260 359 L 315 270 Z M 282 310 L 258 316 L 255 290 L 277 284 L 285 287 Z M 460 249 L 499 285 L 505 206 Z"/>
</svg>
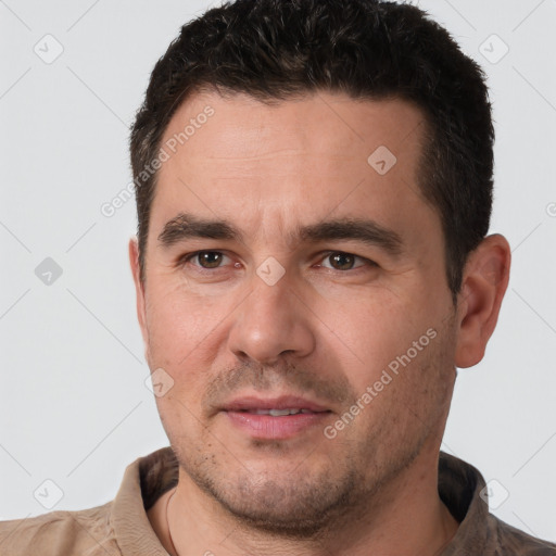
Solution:
<svg viewBox="0 0 556 556">
<path fill-rule="evenodd" d="M 226 404 L 232 427 L 256 440 L 287 440 L 307 433 L 332 413 L 326 406 L 299 396 L 248 396 Z"/>
</svg>

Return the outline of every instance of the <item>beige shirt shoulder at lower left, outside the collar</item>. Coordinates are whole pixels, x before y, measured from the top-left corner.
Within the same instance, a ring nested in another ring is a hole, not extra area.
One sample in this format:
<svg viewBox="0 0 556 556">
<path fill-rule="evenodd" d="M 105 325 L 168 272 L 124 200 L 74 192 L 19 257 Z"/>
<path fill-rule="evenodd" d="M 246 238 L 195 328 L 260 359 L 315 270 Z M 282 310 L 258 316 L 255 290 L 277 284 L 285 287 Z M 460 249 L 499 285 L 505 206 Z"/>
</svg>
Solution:
<svg viewBox="0 0 556 556">
<path fill-rule="evenodd" d="M 0 554 L 121 555 L 110 522 L 112 502 L 79 511 L 51 511 L 0 521 Z"/>
</svg>

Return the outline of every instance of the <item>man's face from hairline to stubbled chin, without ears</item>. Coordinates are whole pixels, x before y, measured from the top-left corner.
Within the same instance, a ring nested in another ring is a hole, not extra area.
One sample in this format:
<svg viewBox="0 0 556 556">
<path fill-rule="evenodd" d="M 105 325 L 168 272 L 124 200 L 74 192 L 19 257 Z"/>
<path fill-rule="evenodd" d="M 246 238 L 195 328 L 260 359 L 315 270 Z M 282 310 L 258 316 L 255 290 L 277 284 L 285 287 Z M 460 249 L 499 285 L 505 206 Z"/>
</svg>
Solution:
<svg viewBox="0 0 556 556">
<path fill-rule="evenodd" d="M 455 332 L 422 130 L 402 101 L 204 93 L 165 132 L 138 289 L 156 402 L 184 480 L 254 525 L 318 528 L 433 462 Z"/>
</svg>

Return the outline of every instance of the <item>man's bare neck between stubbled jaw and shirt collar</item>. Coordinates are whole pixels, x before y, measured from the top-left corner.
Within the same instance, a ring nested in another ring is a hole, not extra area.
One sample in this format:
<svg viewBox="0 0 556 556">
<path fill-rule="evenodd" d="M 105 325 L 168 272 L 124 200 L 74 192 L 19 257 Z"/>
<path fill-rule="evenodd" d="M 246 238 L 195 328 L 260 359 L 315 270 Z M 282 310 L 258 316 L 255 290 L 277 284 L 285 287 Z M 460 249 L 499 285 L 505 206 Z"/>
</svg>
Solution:
<svg viewBox="0 0 556 556">
<path fill-rule="evenodd" d="M 409 468 L 365 501 L 364 508 L 352 508 L 343 517 L 312 539 L 287 539 L 254 530 L 201 491 L 181 468 L 177 488 L 149 513 L 155 532 L 173 556 L 368 556 L 369 549 L 371 554 L 433 556 L 448 544 L 458 527 L 438 494 L 438 446 L 424 447 Z"/>
</svg>

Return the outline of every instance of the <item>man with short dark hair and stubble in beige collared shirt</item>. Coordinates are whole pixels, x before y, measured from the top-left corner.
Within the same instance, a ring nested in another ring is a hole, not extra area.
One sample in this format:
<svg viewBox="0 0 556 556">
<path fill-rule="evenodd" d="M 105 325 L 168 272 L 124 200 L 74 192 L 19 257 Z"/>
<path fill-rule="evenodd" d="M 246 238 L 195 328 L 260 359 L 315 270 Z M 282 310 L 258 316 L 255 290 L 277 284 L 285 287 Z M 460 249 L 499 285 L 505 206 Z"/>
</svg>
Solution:
<svg viewBox="0 0 556 556">
<path fill-rule="evenodd" d="M 2 525 L 2 554 L 556 554 L 440 453 L 508 282 L 492 142 L 480 70 L 417 8 L 238 0 L 186 25 L 131 134 L 170 447 L 104 506 Z"/>
</svg>

